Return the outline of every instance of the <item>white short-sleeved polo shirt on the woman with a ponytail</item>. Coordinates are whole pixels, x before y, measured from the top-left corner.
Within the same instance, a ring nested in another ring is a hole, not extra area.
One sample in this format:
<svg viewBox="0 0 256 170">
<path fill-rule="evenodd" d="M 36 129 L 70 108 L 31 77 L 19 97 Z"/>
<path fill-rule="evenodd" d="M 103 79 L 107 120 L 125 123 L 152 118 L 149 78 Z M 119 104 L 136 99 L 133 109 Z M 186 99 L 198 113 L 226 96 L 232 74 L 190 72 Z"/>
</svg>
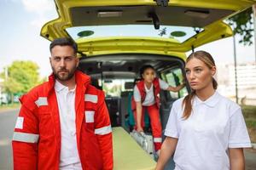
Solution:
<svg viewBox="0 0 256 170">
<path fill-rule="evenodd" d="M 175 170 L 230 170 L 228 149 L 251 147 L 240 106 L 218 92 L 206 101 L 195 96 L 192 114 L 183 120 L 182 103 L 173 103 L 165 131 L 178 139 Z"/>
</svg>

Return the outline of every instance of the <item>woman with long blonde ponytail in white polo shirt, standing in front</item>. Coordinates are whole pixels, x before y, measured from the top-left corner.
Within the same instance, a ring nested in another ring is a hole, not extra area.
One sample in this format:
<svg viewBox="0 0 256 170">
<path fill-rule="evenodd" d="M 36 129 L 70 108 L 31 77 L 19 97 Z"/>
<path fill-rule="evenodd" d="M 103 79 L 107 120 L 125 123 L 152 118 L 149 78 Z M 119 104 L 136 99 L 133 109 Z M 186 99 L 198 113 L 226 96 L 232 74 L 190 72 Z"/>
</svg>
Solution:
<svg viewBox="0 0 256 170">
<path fill-rule="evenodd" d="M 247 127 L 240 106 L 216 91 L 211 54 L 190 54 L 185 70 L 192 93 L 172 105 L 156 169 L 164 169 L 173 153 L 175 170 L 244 169 Z"/>
</svg>

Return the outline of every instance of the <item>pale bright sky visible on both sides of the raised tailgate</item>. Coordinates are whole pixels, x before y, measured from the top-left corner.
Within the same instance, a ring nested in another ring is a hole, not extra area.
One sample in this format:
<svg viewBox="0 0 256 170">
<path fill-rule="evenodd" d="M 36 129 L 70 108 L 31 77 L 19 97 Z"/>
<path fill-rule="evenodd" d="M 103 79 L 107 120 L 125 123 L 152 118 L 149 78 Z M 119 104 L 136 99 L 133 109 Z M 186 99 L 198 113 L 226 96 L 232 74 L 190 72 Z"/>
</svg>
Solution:
<svg viewBox="0 0 256 170">
<path fill-rule="evenodd" d="M 40 75 L 48 76 L 49 41 L 40 37 L 45 22 L 57 18 L 53 0 L 1 0 L 0 1 L 0 71 L 14 60 L 32 60 L 40 67 Z M 237 41 L 238 41 L 237 37 Z M 233 40 L 225 38 L 201 48 L 212 54 L 217 65 L 233 63 Z M 189 54 L 188 52 L 187 54 Z M 236 43 L 238 63 L 255 61 L 254 46 Z"/>
</svg>

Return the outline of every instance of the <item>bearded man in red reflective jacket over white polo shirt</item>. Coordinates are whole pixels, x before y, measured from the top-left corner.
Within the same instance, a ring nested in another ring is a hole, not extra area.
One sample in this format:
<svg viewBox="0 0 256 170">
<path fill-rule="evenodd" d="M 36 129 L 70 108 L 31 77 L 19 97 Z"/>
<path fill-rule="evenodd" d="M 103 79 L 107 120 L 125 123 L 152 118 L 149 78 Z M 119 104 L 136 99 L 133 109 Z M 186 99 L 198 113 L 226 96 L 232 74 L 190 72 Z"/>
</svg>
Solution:
<svg viewBox="0 0 256 170">
<path fill-rule="evenodd" d="M 20 99 L 13 137 L 14 168 L 113 169 L 112 130 L 101 90 L 77 71 L 77 44 L 50 44 L 49 82 Z"/>
</svg>

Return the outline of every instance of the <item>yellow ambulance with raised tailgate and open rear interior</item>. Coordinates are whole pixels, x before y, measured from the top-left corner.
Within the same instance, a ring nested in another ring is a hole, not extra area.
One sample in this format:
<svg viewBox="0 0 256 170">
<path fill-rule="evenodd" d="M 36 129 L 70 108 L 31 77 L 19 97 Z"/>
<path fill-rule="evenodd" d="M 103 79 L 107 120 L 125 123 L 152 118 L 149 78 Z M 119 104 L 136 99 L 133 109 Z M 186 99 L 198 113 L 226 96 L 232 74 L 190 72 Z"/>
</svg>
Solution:
<svg viewBox="0 0 256 170">
<path fill-rule="evenodd" d="M 106 94 L 113 127 L 114 169 L 154 169 L 150 138 L 129 133 L 134 126 L 131 96 L 142 65 L 177 86 L 185 76 L 186 52 L 232 36 L 226 20 L 251 8 L 254 0 L 55 0 L 59 17 L 47 22 L 41 36 L 49 41 L 71 37 L 79 46 L 79 70 Z M 172 103 L 187 94 L 160 92 L 163 129 Z M 150 123 L 148 137 L 150 137 Z M 137 144 L 140 143 L 141 145 Z M 144 149 L 144 150 L 143 150 Z M 169 168 L 172 169 L 172 168 Z"/>
</svg>

